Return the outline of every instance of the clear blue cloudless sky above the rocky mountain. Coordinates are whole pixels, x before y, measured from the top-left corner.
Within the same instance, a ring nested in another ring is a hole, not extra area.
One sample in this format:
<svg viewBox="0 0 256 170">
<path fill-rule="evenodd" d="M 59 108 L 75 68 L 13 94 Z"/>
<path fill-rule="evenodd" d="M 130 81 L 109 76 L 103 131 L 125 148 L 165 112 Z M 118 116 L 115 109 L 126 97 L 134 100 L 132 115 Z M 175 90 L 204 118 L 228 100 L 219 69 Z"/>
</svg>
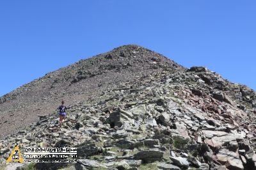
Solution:
<svg viewBox="0 0 256 170">
<path fill-rule="evenodd" d="M 246 0 L 2 0 L 0 96 L 131 43 L 256 89 L 255 9 Z"/>
</svg>

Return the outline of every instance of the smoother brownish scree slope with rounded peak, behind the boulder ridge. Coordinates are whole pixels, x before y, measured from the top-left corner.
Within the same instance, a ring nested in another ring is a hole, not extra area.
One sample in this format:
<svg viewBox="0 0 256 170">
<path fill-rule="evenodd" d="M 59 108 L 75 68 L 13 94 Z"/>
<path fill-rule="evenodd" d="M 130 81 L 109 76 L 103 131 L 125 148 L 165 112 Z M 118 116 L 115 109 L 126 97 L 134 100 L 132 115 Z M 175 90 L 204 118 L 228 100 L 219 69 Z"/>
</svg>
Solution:
<svg viewBox="0 0 256 170">
<path fill-rule="evenodd" d="M 56 112 L 61 100 L 74 105 L 97 98 L 136 76 L 175 67 L 180 66 L 156 52 L 125 45 L 47 73 L 0 98 L 0 139 L 38 120 L 38 116 Z"/>
</svg>

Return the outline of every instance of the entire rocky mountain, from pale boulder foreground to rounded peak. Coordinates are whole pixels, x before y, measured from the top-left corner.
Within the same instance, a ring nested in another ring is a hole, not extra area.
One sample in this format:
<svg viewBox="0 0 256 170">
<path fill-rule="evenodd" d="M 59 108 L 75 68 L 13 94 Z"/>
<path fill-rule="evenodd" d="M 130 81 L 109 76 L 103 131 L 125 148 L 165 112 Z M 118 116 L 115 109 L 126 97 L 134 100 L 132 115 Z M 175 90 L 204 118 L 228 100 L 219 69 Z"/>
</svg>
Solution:
<svg viewBox="0 0 256 170">
<path fill-rule="evenodd" d="M 59 127 L 61 100 L 70 108 Z M 0 159 L 4 167 L 19 144 L 77 147 L 77 162 L 17 169 L 253 170 L 255 108 L 244 85 L 125 45 L 1 97 Z"/>
</svg>

